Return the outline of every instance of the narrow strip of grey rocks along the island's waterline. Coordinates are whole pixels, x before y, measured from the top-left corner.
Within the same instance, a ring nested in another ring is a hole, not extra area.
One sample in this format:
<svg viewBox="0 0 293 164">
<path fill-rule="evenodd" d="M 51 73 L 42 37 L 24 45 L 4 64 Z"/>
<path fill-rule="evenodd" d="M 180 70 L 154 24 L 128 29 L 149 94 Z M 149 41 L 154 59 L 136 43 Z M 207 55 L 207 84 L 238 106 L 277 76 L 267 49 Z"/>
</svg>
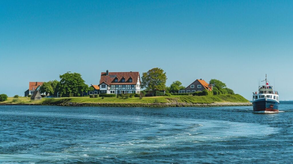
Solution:
<svg viewBox="0 0 293 164">
<path fill-rule="evenodd" d="M 52 104 L 47 104 L 52 105 Z M 209 106 L 252 106 L 252 103 L 64 103 L 59 106 L 109 106 L 109 107 L 209 107 Z"/>
</svg>

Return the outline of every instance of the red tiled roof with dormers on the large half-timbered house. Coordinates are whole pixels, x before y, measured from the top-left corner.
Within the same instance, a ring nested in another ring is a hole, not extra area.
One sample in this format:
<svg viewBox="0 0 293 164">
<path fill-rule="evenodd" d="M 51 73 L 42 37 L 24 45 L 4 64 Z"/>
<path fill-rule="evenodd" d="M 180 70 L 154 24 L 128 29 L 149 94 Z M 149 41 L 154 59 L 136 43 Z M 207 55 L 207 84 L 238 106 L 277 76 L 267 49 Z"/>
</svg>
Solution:
<svg viewBox="0 0 293 164">
<path fill-rule="evenodd" d="M 116 77 L 118 82 L 114 81 Z M 125 82 L 121 81 L 122 77 L 125 78 Z M 109 72 L 108 76 L 106 75 L 106 72 L 101 72 L 100 84 L 105 82 L 108 85 L 136 85 L 138 77 L 139 72 Z M 132 82 L 129 82 L 130 78 L 132 79 Z"/>
</svg>

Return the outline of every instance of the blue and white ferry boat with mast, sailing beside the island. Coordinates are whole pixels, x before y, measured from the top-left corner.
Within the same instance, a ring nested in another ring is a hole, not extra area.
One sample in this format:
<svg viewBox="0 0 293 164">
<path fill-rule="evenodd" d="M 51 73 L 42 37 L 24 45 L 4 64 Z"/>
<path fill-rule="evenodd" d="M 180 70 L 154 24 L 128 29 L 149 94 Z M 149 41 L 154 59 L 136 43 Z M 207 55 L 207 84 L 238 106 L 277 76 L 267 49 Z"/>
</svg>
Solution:
<svg viewBox="0 0 293 164">
<path fill-rule="evenodd" d="M 267 80 L 267 74 L 265 74 L 265 80 L 263 80 L 262 82 L 265 82 L 265 85 L 259 86 L 258 92 L 253 93 L 253 112 L 279 112 L 279 94 L 277 91 L 273 90 L 273 86 L 271 86 L 269 81 Z"/>
</svg>

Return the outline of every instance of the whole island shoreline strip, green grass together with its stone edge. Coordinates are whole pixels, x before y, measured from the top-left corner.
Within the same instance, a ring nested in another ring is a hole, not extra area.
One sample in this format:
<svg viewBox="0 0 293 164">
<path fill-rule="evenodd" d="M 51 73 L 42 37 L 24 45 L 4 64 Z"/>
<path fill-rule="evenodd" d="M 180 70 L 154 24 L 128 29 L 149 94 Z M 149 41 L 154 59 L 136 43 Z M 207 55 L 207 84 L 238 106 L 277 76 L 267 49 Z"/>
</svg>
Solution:
<svg viewBox="0 0 293 164">
<path fill-rule="evenodd" d="M 158 96 L 135 98 L 102 99 L 89 97 L 43 98 L 31 101 L 29 98 L 8 98 L 0 105 L 59 105 L 59 106 L 117 106 L 117 107 L 178 107 L 178 106 L 250 106 L 251 103 L 239 94 L 209 96 Z"/>
</svg>

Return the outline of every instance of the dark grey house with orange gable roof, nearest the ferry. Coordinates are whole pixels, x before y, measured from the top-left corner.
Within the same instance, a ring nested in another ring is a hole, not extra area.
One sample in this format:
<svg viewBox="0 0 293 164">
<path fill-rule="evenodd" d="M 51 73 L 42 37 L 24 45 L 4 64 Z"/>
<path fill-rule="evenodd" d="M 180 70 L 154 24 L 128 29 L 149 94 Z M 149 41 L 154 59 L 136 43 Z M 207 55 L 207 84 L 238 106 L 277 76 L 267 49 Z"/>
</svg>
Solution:
<svg viewBox="0 0 293 164">
<path fill-rule="evenodd" d="M 212 84 L 208 84 L 205 80 L 202 79 L 196 79 L 193 83 L 188 85 L 183 90 L 179 90 L 178 93 L 193 93 L 193 92 L 199 92 L 203 91 L 204 89 L 208 91 L 212 91 L 213 87 Z"/>
</svg>

